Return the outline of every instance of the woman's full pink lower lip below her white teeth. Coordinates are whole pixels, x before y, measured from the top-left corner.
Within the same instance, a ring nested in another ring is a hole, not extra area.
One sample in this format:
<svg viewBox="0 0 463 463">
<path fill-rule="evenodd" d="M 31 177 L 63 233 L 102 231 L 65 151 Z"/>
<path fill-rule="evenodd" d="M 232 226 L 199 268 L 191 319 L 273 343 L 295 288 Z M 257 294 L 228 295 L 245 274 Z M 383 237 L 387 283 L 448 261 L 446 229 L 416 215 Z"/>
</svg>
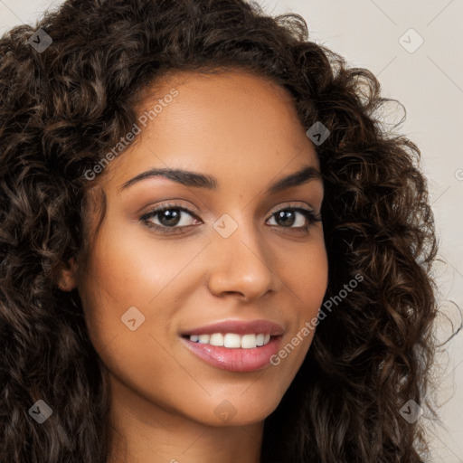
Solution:
<svg viewBox="0 0 463 463">
<path fill-rule="evenodd" d="M 249 373 L 270 364 L 270 357 L 279 352 L 281 335 L 270 337 L 269 343 L 251 349 L 228 348 L 194 343 L 182 337 L 184 344 L 198 357 L 216 368 L 229 372 Z"/>
</svg>

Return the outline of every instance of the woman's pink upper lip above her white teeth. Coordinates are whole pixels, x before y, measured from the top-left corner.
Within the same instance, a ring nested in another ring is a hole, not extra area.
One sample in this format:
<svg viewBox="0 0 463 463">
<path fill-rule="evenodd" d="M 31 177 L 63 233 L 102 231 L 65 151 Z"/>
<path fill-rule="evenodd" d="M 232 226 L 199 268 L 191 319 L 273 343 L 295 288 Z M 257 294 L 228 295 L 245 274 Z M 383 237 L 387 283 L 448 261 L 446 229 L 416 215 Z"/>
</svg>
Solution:
<svg viewBox="0 0 463 463">
<path fill-rule="evenodd" d="M 184 331 L 182 335 L 213 335 L 214 333 L 235 333 L 236 335 L 264 334 L 282 335 L 283 326 L 269 320 L 226 320 Z"/>
</svg>

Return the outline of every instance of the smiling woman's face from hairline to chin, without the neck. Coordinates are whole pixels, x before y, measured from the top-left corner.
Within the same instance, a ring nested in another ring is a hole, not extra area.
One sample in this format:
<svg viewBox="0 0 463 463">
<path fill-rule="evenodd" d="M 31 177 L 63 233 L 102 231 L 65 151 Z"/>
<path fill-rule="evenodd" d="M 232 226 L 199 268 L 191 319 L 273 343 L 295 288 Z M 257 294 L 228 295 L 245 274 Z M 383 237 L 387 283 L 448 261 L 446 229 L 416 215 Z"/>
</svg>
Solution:
<svg viewBox="0 0 463 463">
<path fill-rule="evenodd" d="M 137 143 L 93 180 L 107 211 L 72 277 L 91 342 L 114 400 L 140 414 L 264 420 L 307 354 L 314 330 L 303 328 L 326 292 L 315 148 L 286 90 L 260 77 L 177 76 L 139 114 L 158 99 L 156 117 L 137 120 Z M 144 174 L 155 169 L 192 174 Z"/>
</svg>

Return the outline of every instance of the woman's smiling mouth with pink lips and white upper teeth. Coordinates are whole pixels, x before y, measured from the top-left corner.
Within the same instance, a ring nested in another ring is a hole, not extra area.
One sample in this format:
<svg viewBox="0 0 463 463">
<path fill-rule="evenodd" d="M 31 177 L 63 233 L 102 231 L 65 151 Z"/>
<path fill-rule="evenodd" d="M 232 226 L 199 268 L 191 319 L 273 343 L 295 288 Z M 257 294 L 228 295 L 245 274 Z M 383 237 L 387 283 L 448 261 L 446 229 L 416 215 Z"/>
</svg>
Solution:
<svg viewBox="0 0 463 463">
<path fill-rule="evenodd" d="M 282 326 L 267 320 L 231 320 L 181 334 L 192 354 L 216 368 L 249 373 L 265 368 L 279 351 Z"/>
</svg>

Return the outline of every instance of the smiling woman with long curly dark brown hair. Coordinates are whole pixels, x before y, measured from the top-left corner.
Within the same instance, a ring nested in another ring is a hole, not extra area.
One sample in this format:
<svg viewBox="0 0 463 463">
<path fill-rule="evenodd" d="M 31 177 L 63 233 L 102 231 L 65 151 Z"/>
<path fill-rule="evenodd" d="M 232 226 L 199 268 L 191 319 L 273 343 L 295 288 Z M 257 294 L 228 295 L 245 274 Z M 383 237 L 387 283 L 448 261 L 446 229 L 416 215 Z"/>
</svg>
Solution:
<svg viewBox="0 0 463 463">
<path fill-rule="evenodd" d="M 421 462 L 437 252 L 370 71 L 242 0 L 0 41 L 3 462 Z"/>
</svg>

